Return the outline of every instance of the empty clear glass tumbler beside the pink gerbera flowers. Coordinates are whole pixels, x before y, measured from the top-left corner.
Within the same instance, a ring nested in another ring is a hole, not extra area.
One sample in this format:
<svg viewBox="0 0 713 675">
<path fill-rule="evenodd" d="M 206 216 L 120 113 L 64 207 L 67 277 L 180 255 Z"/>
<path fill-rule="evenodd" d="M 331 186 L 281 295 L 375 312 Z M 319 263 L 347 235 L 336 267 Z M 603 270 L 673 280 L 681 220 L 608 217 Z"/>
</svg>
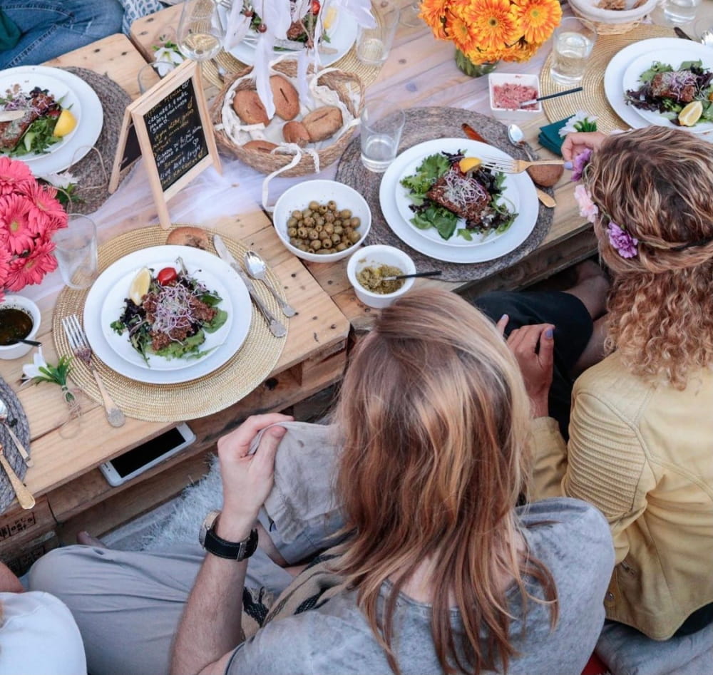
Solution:
<svg viewBox="0 0 713 675">
<path fill-rule="evenodd" d="M 64 283 L 73 289 L 90 287 L 98 272 L 94 221 L 78 213 L 70 213 L 67 227 L 57 230 L 52 239 Z"/>
</svg>

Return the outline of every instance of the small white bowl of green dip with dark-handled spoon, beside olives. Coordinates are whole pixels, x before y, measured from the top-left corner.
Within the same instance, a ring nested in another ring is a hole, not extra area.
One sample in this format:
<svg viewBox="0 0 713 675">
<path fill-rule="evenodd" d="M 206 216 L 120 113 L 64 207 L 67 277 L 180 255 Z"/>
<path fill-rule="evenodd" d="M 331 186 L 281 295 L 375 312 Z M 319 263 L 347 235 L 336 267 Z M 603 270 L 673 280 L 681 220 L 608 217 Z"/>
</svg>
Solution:
<svg viewBox="0 0 713 675">
<path fill-rule="evenodd" d="M 409 254 L 393 246 L 365 246 L 349 258 L 347 277 L 360 302 L 374 309 L 388 307 L 408 292 L 414 279 L 384 279 L 399 274 L 415 274 L 416 265 Z"/>
</svg>

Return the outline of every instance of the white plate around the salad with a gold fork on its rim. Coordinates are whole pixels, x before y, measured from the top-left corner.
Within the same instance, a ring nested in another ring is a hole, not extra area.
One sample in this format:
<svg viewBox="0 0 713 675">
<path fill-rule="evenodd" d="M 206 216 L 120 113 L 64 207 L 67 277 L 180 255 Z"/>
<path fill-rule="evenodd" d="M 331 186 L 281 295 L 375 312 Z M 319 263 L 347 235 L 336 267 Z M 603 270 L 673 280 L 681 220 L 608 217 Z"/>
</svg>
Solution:
<svg viewBox="0 0 713 675">
<path fill-rule="evenodd" d="M 479 246 L 447 246 L 435 240 L 421 237 L 419 230 L 401 216 L 399 207 L 396 205 L 396 192 L 401 189 L 399 180 L 403 175 L 404 167 L 414 157 L 433 155 L 443 150 L 447 153 L 456 153 L 458 150 L 463 150 L 463 152 L 473 157 L 478 157 L 478 154 L 481 154 L 509 158 L 509 155 L 497 148 L 493 148 L 492 145 L 478 143 L 476 140 L 468 140 L 467 138 L 429 140 L 426 143 L 414 145 L 413 148 L 401 153 L 384 173 L 379 187 L 381 212 L 384 213 L 386 223 L 391 227 L 396 237 L 399 237 L 402 242 L 416 251 L 444 262 L 487 262 L 508 254 L 520 246 L 530 236 L 530 232 L 533 231 L 539 212 L 535 185 L 526 172 L 511 176 L 513 178 L 513 189 L 518 193 L 518 217 L 515 218 L 515 222 L 510 228 L 503 232 L 503 235 L 493 239 L 491 242 L 484 242 Z"/>
</svg>

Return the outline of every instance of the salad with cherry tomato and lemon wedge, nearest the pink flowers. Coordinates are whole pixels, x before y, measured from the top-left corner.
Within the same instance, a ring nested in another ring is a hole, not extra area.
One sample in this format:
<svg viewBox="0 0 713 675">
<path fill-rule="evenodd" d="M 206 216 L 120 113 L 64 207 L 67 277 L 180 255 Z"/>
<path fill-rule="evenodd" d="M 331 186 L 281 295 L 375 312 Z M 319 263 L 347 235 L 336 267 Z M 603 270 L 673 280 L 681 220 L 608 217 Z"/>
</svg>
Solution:
<svg viewBox="0 0 713 675">
<path fill-rule="evenodd" d="M 200 359 L 205 334 L 214 333 L 227 319 L 218 305 L 222 298 L 189 274 L 183 260 L 157 273 L 143 267 L 131 282 L 120 316 L 111 322 L 149 365 L 148 356 Z"/>
</svg>

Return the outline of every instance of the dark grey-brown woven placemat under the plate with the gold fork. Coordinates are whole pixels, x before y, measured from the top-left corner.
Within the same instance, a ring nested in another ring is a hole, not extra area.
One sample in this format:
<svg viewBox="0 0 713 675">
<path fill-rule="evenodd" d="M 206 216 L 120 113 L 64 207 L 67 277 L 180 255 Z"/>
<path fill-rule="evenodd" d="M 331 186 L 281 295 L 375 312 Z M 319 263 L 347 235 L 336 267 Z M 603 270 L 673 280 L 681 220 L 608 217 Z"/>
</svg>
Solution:
<svg viewBox="0 0 713 675">
<path fill-rule="evenodd" d="M 495 148 L 503 150 L 503 152 L 514 158 L 528 159 L 525 150 L 516 148 L 508 140 L 508 129 L 505 125 L 486 115 L 473 113 L 471 110 L 463 110 L 462 108 L 411 108 L 406 110 L 406 124 L 404 125 L 404 133 L 401 135 L 401 143 L 399 143 L 399 153 L 427 140 L 461 137 L 463 136 L 463 130 L 461 129 L 463 122 L 471 125 Z M 466 138 L 463 138 L 463 140 L 466 140 Z M 423 272 L 426 269 L 433 269 L 433 258 L 419 253 L 408 244 L 402 242 L 391 231 L 391 227 L 386 224 L 379 203 L 379 185 L 381 185 L 382 176 L 383 174 L 381 173 L 374 173 L 364 168 L 361 163 L 359 137 L 352 140 L 352 143 L 349 143 L 347 150 L 344 151 L 344 155 L 339 161 L 337 180 L 354 187 L 355 190 L 359 190 L 361 195 L 364 195 L 364 199 L 369 202 L 369 207 L 371 208 L 369 244 L 395 246 L 406 251 L 414 259 L 416 270 Z M 550 195 L 553 194 L 551 189 L 547 189 L 545 192 L 549 192 Z M 501 269 L 510 267 L 538 247 L 550 230 L 552 217 L 553 210 L 540 204 L 535 229 L 525 239 L 525 242 L 520 244 L 514 251 L 488 262 L 456 263 L 439 260 L 438 269 L 441 269 L 443 274 L 438 278 L 447 282 L 466 282 L 488 277 Z"/>
</svg>

